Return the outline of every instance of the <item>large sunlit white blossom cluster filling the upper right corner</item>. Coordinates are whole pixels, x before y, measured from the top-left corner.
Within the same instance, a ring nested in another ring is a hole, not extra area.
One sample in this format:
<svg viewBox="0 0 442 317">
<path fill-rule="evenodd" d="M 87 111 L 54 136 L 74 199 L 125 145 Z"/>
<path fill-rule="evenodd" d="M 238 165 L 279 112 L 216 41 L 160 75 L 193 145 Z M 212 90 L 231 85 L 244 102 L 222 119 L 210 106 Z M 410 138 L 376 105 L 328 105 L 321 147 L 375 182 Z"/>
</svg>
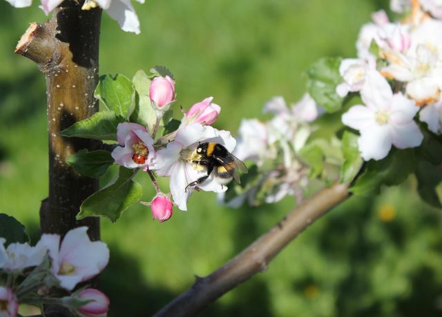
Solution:
<svg viewBox="0 0 442 317">
<path fill-rule="evenodd" d="M 441 133 L 442 109 L 442 5 L 436 0 L 391 2 L 402 13 L 392 22 L 381 10 L 363 25 L 356 48 L 358 58 L 340 65 L 343 82 L 336 92 L 361 95 L 342 116 L 358 130 L 358 149 L 365 161 L 380 160 L 398 149 L 419 147 L 423 133 L 416 123 Z"/>
</svg>

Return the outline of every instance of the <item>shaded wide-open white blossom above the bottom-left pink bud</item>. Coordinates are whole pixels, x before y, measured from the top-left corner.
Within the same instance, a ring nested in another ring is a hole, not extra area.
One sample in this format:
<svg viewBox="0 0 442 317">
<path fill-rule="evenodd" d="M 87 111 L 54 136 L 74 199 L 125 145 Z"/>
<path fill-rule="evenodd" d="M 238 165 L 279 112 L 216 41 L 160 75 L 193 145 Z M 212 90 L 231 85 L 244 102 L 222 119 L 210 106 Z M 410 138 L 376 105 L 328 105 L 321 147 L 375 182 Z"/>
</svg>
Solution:
<svg viewBox="0 0 442 317">
<path fill-rule="evenodd" d="M 52 273 L 60 286 L 68 291 L 77 283 L 84 282 L 102 272 L 109 261 L 106 243 L 90 241 L 88 227 L 70 230 L 60 245 L 58 234 L 43 234 L 41 241 L 49 250 Z"/>
</svg>

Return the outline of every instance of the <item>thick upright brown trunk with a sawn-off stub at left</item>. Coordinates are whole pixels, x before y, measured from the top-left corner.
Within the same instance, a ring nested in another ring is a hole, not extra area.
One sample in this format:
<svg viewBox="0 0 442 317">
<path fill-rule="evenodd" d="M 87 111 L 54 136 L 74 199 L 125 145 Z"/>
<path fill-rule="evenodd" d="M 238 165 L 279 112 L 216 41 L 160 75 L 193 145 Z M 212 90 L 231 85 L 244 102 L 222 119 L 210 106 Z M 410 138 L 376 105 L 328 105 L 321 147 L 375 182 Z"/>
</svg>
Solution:
<svg viewBox="0 0 442 317">
<path fill-rule="evenodd" d="M 102 10 L 81 10 L 81 3 L 64 1 L 52 19 L 31 23 L 15 52 L 35 61 L 46 76 L 49 130 L 49 197 L 41 204 L 41 231 L 64 235 L 79 225 L 99 238 L 99 220 L 75 221 L 79 206 L 98 189 L 98 181 L 79 176 L 66 164 L 82 148 L 97 141 L 67 139 L 59 131 L 98 110 L 93 92 L 98 81 L 99 25 Z"/>
</svg>

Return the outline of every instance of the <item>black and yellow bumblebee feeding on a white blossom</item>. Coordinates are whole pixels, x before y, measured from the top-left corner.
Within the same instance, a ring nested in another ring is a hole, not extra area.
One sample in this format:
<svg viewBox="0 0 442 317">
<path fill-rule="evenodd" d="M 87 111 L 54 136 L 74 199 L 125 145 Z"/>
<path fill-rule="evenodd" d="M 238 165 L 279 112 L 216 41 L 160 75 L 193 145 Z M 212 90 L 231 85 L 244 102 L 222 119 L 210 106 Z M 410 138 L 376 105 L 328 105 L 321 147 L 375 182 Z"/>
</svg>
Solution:
<svg viewBox="0 0 442 317">
<path fill-rule="evenodd" d="M 187 185 L 186 190 L 187 187 L 198 186 L 211 174 L 221 185 L 229 183 L 232 179 L 235 179 L 240 184 L 238 170 L 242 173 L 247 173 L 246 165 L 219 143 L 201 143 L 189 161 L 195 164 L 194 167 L 197 170 L 205 170 L 207 174 Z"/>
</svg>

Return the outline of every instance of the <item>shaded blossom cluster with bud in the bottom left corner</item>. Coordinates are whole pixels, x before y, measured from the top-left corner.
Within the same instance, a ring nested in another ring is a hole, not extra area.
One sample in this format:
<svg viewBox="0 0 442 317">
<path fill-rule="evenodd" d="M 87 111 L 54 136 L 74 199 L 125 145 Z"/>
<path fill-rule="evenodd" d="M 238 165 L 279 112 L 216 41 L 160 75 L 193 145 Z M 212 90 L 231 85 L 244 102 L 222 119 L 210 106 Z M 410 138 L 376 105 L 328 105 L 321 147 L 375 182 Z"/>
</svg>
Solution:
<svg viewBox="0 0 442 317">
<path fill-rule="evenodd" d="M 97 289 L 81 288 L 63 298 L 57 287 L 72 291 L 106 267 L 109 250 L 90 241 L 87 227 L 70 230 L 60 243 L 58 234 L 43 234 L 34 247 L 0 238 L 0 316 L 15 317 L 20 303 L 52 304 L 70 309 L 75 316 L 105 317 L 109 300 Z"/>
</svg>

